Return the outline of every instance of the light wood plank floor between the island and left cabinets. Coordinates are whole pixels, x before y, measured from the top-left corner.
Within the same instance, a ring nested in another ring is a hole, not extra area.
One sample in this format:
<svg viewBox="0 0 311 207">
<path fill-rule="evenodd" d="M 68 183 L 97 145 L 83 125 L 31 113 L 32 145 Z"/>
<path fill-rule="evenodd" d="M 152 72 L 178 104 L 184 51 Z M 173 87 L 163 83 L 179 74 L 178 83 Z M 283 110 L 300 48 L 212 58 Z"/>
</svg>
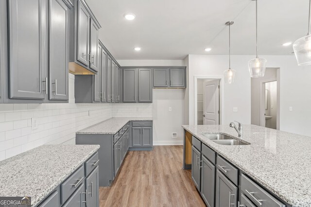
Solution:
<svg viewBox="0 0 311 207">
<path fill-rule="evenodd" d="M 100 207 L 205 207 L 182 159 L 180 145 L 128 152 L 112 186 L 100 188 Z"/>
</svg>

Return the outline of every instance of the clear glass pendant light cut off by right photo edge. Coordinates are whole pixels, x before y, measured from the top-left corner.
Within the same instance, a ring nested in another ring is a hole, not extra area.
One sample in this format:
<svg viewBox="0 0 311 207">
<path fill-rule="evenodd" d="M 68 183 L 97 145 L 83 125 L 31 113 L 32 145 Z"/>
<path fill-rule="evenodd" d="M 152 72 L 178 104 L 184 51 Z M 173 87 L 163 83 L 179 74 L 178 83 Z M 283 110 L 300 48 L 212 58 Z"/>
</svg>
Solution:
<svg viewBox="0 0 311 207">
<path fill-rule="evenodd" d="M 293 44 L 298 65 L 311 64 L 311 0 L 309 1 L 309 25 L 307 36 L 297 39 Z"/>
</svg>

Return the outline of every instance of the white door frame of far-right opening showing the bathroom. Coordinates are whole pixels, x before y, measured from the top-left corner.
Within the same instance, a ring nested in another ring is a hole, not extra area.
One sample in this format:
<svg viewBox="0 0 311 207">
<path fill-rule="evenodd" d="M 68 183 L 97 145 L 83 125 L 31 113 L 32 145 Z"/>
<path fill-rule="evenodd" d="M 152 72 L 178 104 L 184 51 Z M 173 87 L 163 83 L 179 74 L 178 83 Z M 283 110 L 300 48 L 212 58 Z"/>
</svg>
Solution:
<svg viewBox="0 0 311 207">
<path fill-rule="evenodd" d="M 262 80 L 260 81 L 260 101 L 259 101 L 259 109 L 260 109 L 260 114 L 259 114 L 259 125 L 261 127 L 266 127 L 266 118 L 264 116 L 266 107 L 265 107 L 265 83 L 268 82 L 274 82 L 276 81 L 276 129 L 280 129 L 280 83 L 279 83 L 279 70 L 277 69 L 277 77 L 272 78 L 272 79 L 267 79 L 267 80 Z"/>
</svg>

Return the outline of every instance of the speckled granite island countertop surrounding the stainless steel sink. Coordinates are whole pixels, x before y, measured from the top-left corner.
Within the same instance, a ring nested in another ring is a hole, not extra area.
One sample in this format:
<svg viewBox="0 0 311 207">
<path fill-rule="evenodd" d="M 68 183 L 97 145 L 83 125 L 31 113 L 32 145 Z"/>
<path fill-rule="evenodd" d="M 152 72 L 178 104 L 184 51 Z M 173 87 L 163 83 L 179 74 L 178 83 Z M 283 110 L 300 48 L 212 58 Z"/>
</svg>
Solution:
<svg viewBox="0 0 311 207">
<path fill-rule="evenodd" d="M 225 125 L 182 126 L 262 186 L 295 207 L 311 207 L 311 137 L 255 125 L 243 125 L 250 145 L 221 145 L 204 134 L 238 137 Z"/>
</svg>

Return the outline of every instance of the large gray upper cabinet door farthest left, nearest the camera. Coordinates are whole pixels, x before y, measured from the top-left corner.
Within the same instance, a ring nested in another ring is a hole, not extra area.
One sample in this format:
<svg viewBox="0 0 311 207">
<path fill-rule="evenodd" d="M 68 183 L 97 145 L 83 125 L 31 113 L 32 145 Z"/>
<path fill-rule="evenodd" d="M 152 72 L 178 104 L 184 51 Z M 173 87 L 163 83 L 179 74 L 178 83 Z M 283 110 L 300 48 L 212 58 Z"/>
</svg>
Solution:
<svg viewBox="0 0 311 207">
<path fill-rule="evenodd" d="M 46 96 L 46 2 L 8 1 L 10 98 L 44 99 Z"/>
</svg>

